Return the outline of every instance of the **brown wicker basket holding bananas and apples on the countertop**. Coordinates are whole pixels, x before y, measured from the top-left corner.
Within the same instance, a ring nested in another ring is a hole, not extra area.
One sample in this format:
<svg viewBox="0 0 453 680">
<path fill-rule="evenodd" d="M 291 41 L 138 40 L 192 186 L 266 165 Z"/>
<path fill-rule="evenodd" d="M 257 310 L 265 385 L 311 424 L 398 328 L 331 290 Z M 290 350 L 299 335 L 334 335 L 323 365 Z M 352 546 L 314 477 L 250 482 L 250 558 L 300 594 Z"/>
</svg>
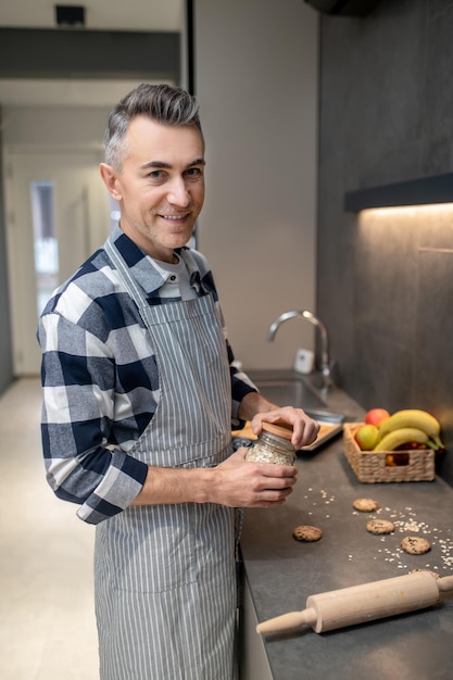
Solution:
<svg viewBox="0 0 453 680">
<path fill-rule="evenodd" d="M 344 454 L 358 481 L 432 481 L 436 454 L 431 449 L 411 451 L 361 451 L 354 435 L 363 423 L 344 423 Z"/>
</svg>

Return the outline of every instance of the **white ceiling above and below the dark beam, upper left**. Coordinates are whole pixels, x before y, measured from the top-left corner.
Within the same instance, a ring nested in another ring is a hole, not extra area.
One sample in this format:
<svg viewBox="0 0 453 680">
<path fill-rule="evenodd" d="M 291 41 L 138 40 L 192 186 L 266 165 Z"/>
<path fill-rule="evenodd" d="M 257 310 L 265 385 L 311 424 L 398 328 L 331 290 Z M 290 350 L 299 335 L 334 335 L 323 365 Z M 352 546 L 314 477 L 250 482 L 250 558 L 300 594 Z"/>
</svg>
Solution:
<svg viewBox="0 0 453 680">
<path fill-rule="evenodd" d="M 7 28 L 55 28 L 54 4 L 77 4 L 49 0 L 15 0 L 0 4 L 0 26 Z M 85 29 L 179 32 L 185 24 L 185 0 L 84 0 Z M 68 30 L 80 30 L 68 28 Z M 84 29 L 81 29 L 84 30 Z M 55 80 L 0 78 L 2 105 L 110 106 L 136 80 Z"/>
</svg>

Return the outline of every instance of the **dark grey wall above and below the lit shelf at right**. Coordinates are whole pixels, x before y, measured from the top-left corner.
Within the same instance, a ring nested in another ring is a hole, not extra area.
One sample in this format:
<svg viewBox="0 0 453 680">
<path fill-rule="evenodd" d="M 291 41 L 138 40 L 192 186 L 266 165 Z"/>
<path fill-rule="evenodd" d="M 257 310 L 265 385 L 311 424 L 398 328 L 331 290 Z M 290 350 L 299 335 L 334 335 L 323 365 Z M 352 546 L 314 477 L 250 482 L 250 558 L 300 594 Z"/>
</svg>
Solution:
<svg viewBox="0 0 453 680">
<path fill-rule="evenodd" d="M 452 171 L 453 2 L 323 16 L 320 46 L 317 310 L 339 379 L 366 408 L 430 411 L 453 452 L 453 211 L 364 229 L 343 210 L 345 191 Z"/>
</svg>

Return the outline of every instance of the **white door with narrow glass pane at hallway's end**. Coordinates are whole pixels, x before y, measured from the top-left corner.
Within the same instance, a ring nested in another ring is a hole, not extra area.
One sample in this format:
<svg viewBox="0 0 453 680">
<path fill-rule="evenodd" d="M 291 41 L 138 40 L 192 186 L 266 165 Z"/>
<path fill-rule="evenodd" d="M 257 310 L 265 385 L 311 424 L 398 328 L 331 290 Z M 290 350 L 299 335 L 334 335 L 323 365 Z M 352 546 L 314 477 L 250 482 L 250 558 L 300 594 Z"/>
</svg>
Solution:
<svg viewBox="0 0 453 680">
<path fill-rule="evenodd" d="M 5 152 L 13 370 L 39 375 L 38 316 L 56 286 L 104 242 L 109 194 L 101 152 Z"/>
</svg>

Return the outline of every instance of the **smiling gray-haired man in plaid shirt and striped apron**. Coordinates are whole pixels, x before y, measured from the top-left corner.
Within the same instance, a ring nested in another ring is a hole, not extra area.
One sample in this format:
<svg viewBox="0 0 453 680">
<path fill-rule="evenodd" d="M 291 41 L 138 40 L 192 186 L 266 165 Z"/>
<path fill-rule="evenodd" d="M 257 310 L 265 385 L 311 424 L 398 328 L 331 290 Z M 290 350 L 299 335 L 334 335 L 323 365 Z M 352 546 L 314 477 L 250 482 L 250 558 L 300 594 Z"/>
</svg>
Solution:
<svg viewBox="0 0 453 680">
<path fill-rule="evenodd" d="M 284 503 L 297 476 L 232 453 L 231 424 L 289 423 L 295 448 L 317 425 L 236 370 L 186 247 L 204 200 L 196 100 L 139 86 L 110 114 L 100 172 L 119 224 L 40 319 L 48 480 L 97 525 L 102 680 L 230 680 L 235 508 Z"/>
</svg>

